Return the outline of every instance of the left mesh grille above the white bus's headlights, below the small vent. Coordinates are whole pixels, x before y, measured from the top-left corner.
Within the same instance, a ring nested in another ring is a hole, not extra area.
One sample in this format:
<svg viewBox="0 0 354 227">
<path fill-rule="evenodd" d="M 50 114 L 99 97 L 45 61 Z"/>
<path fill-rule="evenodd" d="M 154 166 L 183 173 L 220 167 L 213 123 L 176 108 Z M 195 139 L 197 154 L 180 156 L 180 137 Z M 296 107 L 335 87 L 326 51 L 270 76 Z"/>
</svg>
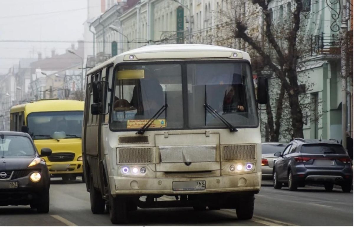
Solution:
<svg viewBox="0 0 354 227">
<path fill-rule="evenodd" d="M 154 147 L 125 147 L 118 149 L 118 163 L 154 163 Z"/>
</svg>

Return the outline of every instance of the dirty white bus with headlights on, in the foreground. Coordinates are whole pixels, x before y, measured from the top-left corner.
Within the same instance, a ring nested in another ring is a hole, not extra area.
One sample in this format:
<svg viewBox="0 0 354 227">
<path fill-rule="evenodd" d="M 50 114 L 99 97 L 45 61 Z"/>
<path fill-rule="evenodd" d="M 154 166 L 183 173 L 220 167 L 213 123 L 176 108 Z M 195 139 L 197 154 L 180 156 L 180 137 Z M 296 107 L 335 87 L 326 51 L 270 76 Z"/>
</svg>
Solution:
<svg viewBox="0 0 354 227">
<path fill-rule="evenodd" d="M 267 79 L 257 85 L 258 99 L 249 54 L 210 45 L 141 47 L 90 70 L 82 153 L 92 212 L 107 204 L 114 224 L 137 207 L 251 219 Z"/>
</svg>

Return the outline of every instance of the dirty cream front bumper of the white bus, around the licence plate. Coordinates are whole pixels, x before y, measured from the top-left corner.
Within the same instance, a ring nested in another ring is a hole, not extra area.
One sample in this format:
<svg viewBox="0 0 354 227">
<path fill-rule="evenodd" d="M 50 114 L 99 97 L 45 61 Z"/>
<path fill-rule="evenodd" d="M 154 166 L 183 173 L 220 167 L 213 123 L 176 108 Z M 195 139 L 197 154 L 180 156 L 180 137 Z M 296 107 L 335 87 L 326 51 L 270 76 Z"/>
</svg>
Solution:
<svg viewBox="0 0 354 227">
<path fill-rule="evenodd" d="M 144 178 L 144 177 L 109 177 L 112 194 L 204 194 L 222 192 L 259 192 L 261 188 L 261 172 L 196 178 Z M 203 190 L 174 190 L 173 182 L 205 181 Z"/>
</svg>

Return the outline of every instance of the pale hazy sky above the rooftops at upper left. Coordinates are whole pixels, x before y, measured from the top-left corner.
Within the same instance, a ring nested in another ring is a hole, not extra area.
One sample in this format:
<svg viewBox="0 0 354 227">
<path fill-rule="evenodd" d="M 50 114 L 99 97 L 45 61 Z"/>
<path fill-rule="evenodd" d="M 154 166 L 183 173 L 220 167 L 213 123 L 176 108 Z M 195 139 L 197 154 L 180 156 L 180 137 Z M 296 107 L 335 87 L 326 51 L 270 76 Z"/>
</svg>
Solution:
<svg viewBox="0 0 354 227">
<path fill-rule="evenodd" d="M 53 48 L 64 53 L 70 42 L 44 41 L 83 39 L 86 15 L 87 0 L 0 0 L 0 74 L 18 64 L 19 58 L 37 58 L 38 52 L 49 57 Z"/>
</svg>

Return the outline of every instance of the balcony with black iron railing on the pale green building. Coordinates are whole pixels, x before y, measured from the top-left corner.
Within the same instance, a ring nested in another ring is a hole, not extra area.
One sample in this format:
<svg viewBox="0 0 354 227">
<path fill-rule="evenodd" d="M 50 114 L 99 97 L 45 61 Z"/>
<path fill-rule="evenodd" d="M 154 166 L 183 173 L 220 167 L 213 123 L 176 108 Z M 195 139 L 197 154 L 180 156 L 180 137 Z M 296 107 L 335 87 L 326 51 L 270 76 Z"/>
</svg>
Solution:
<svg viewBox="0 0 354 227">
<path fill-rule="evenodd" d="M 327 35 L 323 32 L 319 35 L 311 35 L 311 56 L 322 58 L 338 58 L 341 54 L 341 46 L 338 34 Z"/>
</svg>

